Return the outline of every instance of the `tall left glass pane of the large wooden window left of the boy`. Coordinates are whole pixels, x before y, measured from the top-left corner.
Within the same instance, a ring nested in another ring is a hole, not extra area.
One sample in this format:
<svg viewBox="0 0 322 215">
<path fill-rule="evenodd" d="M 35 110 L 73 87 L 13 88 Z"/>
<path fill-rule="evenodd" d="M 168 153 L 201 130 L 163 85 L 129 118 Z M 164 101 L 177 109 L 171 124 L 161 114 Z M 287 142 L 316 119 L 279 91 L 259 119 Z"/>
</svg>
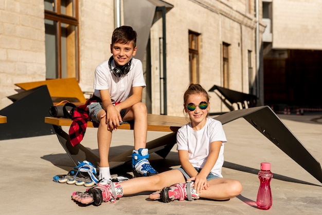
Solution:
<svg viewBox="0 0 322 215">
<path fill-rule="evenodd" d="M 57 22 L 45 19 L 46 79 L 58 78 Z"/>
</svg>

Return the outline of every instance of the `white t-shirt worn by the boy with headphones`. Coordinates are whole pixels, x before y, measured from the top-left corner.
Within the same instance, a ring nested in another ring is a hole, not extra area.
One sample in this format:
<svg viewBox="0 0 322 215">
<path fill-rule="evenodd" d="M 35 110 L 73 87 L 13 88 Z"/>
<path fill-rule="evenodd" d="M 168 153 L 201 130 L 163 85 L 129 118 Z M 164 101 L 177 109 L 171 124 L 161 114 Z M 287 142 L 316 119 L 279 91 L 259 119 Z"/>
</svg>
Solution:
<svg viewBox="0 0 322 215">
<path fill-rule="evenodd" d="M 112 69 L 115 67 L 114 60 L 111 62 Z M 109 67 L 109 61 L 104 61 L 95 69 L 94 95 L 101 98 L 100 89 L 109 89 L 112 103 L 122 102 L 129 98 L 133 92 L 132 87 L 146 86 L 143 76 L 142 62 L 132 58 L 130 71 L 127 75 L 118 78 Z"/>
</svg>

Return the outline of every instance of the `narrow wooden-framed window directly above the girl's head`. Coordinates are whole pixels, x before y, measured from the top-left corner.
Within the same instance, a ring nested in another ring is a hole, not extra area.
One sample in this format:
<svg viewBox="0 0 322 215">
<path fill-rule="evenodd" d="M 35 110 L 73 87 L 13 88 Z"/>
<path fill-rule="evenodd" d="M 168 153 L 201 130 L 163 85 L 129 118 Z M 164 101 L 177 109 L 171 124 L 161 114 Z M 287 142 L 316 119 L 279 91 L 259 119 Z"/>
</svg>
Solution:
<svg viewBox="0 0 322 215">
<path fill-rule="evenodd" d="M 199 35 L 189 31 L 189 73 L 190 83 L 199 83 Z"/>
</svg>

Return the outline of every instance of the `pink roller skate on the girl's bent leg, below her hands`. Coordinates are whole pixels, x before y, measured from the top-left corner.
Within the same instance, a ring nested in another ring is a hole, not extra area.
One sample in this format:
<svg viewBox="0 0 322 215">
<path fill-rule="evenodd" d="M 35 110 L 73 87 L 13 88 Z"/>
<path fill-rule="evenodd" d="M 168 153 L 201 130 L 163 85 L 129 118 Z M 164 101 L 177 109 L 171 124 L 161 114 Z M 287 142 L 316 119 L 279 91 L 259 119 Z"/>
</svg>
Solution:
<svg viewBox="0 0 322 215">
<path fill-rule="evenodd" d="M 193 182 L 179 183 L 170 187 L 165 187 L 160 192 L 160 199 L 163 202 L 171 202 L 174 200 L 183 201 L 188 199 L 193 201 L 199 199 L 199 193 L 193 188 Z"/>
</svg>

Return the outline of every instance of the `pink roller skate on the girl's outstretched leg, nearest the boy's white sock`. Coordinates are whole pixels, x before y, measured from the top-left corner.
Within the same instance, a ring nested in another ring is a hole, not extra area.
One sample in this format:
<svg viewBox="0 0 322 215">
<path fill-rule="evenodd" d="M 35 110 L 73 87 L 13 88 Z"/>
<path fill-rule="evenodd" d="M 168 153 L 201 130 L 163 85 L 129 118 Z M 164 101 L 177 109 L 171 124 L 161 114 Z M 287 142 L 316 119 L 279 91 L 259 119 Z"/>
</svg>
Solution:
<svg viewBox="0 0 322 215">
<path fill-rule="evenodd" d="M 103 202 L 114 203 L 121 196 L 123 196 L 121 185 L 111 182 L 106 185 L 98 184 L 85 192 L 74 192 L 71 199 L 84 205 L 93 203 L 95 206 L 99 206 Z"/>
</svg>

